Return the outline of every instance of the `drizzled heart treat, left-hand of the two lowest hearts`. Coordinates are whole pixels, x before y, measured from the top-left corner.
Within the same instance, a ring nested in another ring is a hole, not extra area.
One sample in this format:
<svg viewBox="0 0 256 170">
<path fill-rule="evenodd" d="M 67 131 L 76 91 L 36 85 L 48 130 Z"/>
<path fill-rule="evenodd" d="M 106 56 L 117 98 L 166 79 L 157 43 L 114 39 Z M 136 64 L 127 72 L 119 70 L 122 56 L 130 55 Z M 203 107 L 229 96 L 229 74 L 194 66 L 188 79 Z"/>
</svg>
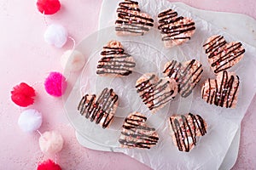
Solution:
<svg viewBox="0 0 256 170">
<path fill-rule="evenodd" d="M 150 149 L 159 138 L 153 127 L 146 124 L 147 117 L 134 112 L 125 118 L 119 143 L 123 148 Z"/>
</svg>

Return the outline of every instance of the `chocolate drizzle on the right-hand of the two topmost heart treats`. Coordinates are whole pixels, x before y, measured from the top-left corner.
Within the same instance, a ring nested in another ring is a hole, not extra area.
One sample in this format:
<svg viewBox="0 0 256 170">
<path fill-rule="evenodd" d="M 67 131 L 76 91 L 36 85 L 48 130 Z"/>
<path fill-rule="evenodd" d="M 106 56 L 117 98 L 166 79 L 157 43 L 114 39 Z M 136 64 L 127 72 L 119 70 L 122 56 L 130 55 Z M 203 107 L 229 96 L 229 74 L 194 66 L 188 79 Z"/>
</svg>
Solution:
<svg viewBox="0 0 256 170">
<path fill-rule="evenodd" d="M 158 29 L 162 34 L 162 41 L 190 39 L 190 37 L 184 36 L 185 33 L 195 30 L 195 22 L 183 24 L 183 16 L 177 16 L 177 12 L 171 8 L 161 12 L 158 18 Z"/>
</svg>

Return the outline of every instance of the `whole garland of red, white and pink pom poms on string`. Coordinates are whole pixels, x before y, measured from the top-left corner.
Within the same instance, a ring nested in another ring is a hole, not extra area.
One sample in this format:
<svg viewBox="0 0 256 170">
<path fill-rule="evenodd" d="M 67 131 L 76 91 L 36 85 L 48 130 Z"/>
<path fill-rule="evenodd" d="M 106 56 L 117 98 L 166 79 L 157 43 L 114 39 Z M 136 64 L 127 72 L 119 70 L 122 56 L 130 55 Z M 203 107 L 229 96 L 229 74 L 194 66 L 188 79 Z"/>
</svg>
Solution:
<svg viewBox="0 0 256 170">
<path fill-rule="evenodd" d="M 55 14 L 61 9 L 61 3 L 59 0 L 38 0 L 38 11 L 45 15 Z M 46 21 L 45 21 L 46 22 Z M 47 23 L 46 23 L 47 25 Z M 73 40 L 72 37 L 69 37 Z M 44 32 L 44 41 L 56 48 L 62 48 L 68 39 L 68 33 L 64 26 L 51 24 L 47 26 Z M 73 40 L 74 46 L 75 41 Z M 74 47 L 73 47 L 74 48 Z M 79 71 L 84 66 L 84 55 L 77 50 L 67 50 L 61 56 L 61 66 L 67 71 Z M 53 97 L 61 97 L 65 94 L 67 89 L 67 79 L 60 72 L 51 71 L 49 76 L 44 80 L 44 90 L 47 94 Z M 26 82 L 20 82 L 11 90 L 11 99 L 22 108 L 26 108 L 33 105 L 37 92 L 32 86 Z M 40 150 L 45 155 L 55 155 L 60 152 L 63 147 L 64 140 L 61 133 L 56 131 L 46 131 L 44 133 L 39 132 L 39 128 L 43 123 L 43 115 L 36 109 L 25 109 L 21 111 L 18 126 L 25 133 L 38 132 L 40 138 L 38 139 Z M 50 159 L 39 162 L 38 170 L 61 170 L 61 166 L 57 164 L 56 160 Z"/>
</svg>

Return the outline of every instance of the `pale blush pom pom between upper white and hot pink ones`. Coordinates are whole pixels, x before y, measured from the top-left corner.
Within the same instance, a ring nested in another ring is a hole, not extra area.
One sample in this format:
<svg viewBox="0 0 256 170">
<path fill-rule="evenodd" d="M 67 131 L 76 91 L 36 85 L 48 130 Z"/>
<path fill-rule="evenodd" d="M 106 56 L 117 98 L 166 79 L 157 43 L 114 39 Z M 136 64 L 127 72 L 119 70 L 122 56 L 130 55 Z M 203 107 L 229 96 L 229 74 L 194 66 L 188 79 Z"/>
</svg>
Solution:
<svg viewBox="0 0 256 170">
<path fill-rule="evenodd" d="M 77 50 L 67 50 L 61 56 L 61 66 L 67 71 L 79 71 L 85 63 L 84 55 Z"/>
</svg>

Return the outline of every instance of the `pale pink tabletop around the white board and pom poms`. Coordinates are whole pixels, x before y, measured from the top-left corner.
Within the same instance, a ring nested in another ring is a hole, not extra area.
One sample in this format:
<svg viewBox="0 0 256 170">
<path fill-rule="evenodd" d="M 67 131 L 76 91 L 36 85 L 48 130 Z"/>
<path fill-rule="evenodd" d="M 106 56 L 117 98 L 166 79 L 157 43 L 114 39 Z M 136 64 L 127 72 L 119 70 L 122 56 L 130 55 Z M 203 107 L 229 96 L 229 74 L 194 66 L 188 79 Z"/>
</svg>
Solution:
<svg viewBox="0 0 256 170">
<path fill-rule="evenodd" d="M 177 1 L 171 1 L 177 2 Z M 254 0 L 201 1 L 183 0 L 192 7 L 214 11 L 248 14 L 256 19 Z M 48 24 L 61 24 L 76 42 L 97 30 L 102 1 L 61 1 L 61 11 L 46 16 Z M 44 156 L 38 145 L 38 133 L 23 133 L 17 125 L 23 108 L 12 103 L 10 90 L 20 82 L 27 82 L 37 91 L 35 104 L 29 108 L 42 112 L 44 122 L 39 128 L 59 131 L 65 144 L 57 154 L 62 169 L 149 169 L 129 156 L 89 150 L 75 139 L 73 127 L 68 123 L 61 98 L 44 91 L 44 79 L 50 71 L 60 71 L 61 54 L 73 47 L 68 40 L 63 48 L 44 42 L 46 25 L 35 1 L 0 0 L 0 169 L 36 169 Z M 256 97 L 241 123 L 239 156 L 233 169 L 256 168 Z"/>
</svg>

